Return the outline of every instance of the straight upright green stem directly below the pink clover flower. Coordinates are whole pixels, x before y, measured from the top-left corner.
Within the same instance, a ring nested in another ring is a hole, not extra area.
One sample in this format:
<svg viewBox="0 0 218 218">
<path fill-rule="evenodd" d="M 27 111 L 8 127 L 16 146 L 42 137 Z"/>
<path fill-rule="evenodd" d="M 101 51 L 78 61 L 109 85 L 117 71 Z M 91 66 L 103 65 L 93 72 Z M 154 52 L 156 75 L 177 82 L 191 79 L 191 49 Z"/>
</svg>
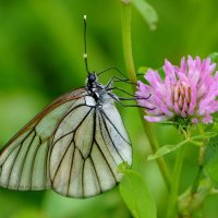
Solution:
<svg viewBox="0 0 218 218">
<path fill-rule="evenodd" d="M 175 218 L 175 208 L 177 208 L 177 199 L 178 199 L 178 191 L 180 184 L 180 174 L 182 170 L 182 164 L 184 159 L 186 146 L 182 146 L 177 154 L 175 164 L 172 172 L 172 183 L 170 190 L 169 205 L 167 210 L 167 218 Z"/>
</svg>

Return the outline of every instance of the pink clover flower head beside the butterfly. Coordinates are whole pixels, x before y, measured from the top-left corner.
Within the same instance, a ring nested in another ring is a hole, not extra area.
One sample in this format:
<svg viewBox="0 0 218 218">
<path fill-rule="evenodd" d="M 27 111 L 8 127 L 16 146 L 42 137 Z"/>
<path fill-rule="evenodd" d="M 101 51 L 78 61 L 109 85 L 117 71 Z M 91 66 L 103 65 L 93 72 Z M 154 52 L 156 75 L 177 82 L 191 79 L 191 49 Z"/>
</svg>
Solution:
<svg viewBox="0 0 218 218">
<path fill-rule="evenodd" d="M 191 123 L 211 123 L 218 111 L 218 72 L 210 59 L 182 58 L 181 65 L 165 61 L 165 80 L 157 71 L 148 70 L 145 80 L 137 82 L 136 98 L 146 108 L 149 122 L 189 119 Z M 148 96 L 150 96 L 148 98 Z"/>
</svg>

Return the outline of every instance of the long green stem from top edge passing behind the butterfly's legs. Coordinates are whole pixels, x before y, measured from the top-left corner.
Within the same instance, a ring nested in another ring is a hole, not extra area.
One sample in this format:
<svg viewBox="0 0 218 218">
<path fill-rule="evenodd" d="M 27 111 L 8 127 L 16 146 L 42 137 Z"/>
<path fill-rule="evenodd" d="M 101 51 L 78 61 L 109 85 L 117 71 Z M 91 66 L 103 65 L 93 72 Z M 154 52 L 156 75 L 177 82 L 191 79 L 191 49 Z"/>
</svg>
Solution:
<svg viewBox="0 0 218 218">
<path fill-rule="evenodd" d="M 123 41 L 123 53 L 124 53 L 124 62 L 125 68 L 129 73 L 129 77 L 132 82 L 136 82 L 137 77 L 135 74 L 134 61 L 132 56 L 132 43 L 131 43 L 131 0 L 122 0 L 122 41 Z M 135 92 L 135 87 L 133 87 Z M 153 153 L 156 153 L 159 148 L 158 143 L 156 141 L 155 135 L 152 131 L 152 124 L 144 120 L 143 111 L 140 111 L 141 120 L 143 121 L 144 131 L 149 141 Z M 167 170 L 166 162 L 162 157 L 157 159 L 157 164 L 159 166 L 160 172 L 165 180 L 166 186 L 169 190 L 170 187 L 170 179 Z"/>
</svg>

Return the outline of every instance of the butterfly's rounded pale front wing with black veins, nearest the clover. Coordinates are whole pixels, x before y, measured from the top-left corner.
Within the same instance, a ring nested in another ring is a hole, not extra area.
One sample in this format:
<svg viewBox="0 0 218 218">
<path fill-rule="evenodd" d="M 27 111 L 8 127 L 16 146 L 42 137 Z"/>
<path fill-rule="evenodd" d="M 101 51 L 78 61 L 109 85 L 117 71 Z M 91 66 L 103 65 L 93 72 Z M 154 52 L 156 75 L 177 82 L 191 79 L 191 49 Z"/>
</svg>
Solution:
<svg viewBox="0 0 218 218">
<path fill-rule="evenodd" d="M 53 134 L 51 186 L 70 197 L 100 194 L 120 181 L 117 168 L 124 161 L 132 164 L 132 148 L 113 104 L 70 111 Z"/>
</svg>

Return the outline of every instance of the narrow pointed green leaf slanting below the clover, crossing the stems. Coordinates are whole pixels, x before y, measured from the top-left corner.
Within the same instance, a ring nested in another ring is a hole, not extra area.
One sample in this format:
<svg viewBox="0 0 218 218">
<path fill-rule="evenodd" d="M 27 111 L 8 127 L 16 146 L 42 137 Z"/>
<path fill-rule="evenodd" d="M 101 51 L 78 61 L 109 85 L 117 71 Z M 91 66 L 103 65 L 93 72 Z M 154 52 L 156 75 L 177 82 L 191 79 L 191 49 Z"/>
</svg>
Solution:
<svg viewBox="0 0 218 218">
<path fill-rule="evenodd" d="M 160 147 L 154 155 L 149 155 L 147 157 L 147 160 L 154 160 L 158 157 L 161 157 L 164 155 L 167 155 L 178 148 L 180 148 L 181 146 L 183 146 L 185 143 L 189 143 L 189 141 L 182 141 L 181 143 L 177 144 L 177 145 L 165 145 L 162 147 Z"/>
</svg>

